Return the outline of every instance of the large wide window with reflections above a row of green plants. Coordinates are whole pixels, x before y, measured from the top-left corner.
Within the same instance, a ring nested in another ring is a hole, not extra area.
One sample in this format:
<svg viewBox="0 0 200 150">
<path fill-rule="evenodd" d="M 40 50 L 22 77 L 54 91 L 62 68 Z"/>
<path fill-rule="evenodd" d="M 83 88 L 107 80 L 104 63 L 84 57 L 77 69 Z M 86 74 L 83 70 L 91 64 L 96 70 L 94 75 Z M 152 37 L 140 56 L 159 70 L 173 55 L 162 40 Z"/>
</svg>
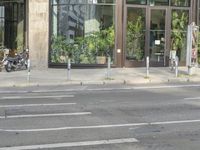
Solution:
<svg viewBox="0 0 200 150">
<path fill-rule="evenodd" d="M 50 62 L 105 64 L 113 60 L 114 5 L 53 5 Z"/>
</svg>

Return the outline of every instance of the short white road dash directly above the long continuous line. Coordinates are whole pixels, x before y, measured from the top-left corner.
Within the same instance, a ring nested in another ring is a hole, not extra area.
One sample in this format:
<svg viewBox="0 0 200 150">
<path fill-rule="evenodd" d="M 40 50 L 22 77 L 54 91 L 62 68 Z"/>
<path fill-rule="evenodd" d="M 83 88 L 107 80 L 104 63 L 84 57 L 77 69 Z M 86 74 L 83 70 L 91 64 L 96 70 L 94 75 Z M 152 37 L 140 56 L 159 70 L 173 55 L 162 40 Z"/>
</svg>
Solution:
<svg viewBox="0 0 200 150">
<path fill-rule="evenodd" d="M 82 116 L 82 115 L 91 115 L 91 112 L 76 112 L 76 113 L 57 113 L 57 114 L 33 114 L 33 115 L 7 115 L 0 116 L 0 119 L 5 118 L 35 118 L 35 117 L 57 117 L 57 116 Z"/>
</svg>

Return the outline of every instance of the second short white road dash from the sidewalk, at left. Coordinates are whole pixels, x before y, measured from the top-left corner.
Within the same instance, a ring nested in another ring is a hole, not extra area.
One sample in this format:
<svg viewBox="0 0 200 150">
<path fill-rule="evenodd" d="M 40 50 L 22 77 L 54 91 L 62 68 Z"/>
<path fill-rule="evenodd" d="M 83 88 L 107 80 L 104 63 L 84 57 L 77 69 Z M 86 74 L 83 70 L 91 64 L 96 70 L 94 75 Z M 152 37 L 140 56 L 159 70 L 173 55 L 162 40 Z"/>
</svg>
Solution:
<svg viewBox="0 0 200 150">
<path fill-rule="evenodd" d="M 67 106 L 67 105 L 76 105 L 76 103 L 49 103 L 49 104 L 0 105 L 0 108 L 40 107 L 40 106 Z"/>
</svg>

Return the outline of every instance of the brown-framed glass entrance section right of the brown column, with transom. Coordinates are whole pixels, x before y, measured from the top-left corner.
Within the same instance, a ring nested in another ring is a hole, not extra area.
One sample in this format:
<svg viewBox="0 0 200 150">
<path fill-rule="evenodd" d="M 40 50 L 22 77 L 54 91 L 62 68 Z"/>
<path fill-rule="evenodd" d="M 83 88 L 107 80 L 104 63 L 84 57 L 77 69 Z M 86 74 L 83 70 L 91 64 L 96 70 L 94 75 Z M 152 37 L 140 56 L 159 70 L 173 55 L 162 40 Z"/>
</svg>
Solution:
<svg viewBox="0 0 200 150">
<path fill-rule="evenodd" d="M 124 10 L 125 66 L 167 66 L 170 51 L 186 61 L 187 26 L 196 22 L 197 1 L 127 0 Z"/>
</svg>

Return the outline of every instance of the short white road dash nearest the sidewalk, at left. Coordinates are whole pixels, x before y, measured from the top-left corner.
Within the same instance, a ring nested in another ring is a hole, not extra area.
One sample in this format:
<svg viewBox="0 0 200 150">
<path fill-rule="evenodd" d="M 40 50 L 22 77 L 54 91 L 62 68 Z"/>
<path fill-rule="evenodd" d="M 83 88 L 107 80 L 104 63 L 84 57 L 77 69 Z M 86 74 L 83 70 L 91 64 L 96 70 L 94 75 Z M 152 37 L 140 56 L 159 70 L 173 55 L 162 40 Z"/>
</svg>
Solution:
<svg viewBox="0 0 200 150">
<path fill-rule="evenodd" d="M 52 96 L 11 96 L 11 97 L 0 97 L 0 99 L 39 99 L 39 98 L 70 98 L 74 95 L 52 95 Z"/>
</svg>

